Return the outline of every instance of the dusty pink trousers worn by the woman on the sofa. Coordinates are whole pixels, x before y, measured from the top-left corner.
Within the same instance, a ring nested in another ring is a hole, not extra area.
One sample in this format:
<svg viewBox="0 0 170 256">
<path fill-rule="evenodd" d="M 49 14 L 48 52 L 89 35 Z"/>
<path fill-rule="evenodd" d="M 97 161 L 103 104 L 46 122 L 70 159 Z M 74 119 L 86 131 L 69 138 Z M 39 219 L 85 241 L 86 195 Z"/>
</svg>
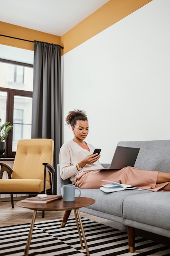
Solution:
<svg viewBox="0 0 170 256">
<path fill-rule="evenodd" d="M 121 170 L 85 171 L 76 175 L 74 184 L 81 189 L 99 189 L 100 186 L 108 184 L 102 180 L 111 180 L 141 189 L 163 191 L 163 187 L 170 182 L 157 184 L 158 173 L 158 171 L 141 170 L 130 166 Z"/>
</svg>

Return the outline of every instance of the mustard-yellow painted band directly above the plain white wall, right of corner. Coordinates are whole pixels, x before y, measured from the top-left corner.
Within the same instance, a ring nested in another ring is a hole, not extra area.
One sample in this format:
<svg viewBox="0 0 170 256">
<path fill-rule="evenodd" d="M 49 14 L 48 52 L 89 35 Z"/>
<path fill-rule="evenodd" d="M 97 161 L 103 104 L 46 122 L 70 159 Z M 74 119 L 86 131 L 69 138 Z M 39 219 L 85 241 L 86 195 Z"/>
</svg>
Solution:
<svg viewBox="0 0 170 256">
<path fill-rule="evenodd" d="M 63 54 L 125 18 L 152 0 L 110 0 L 61 36 Z"/>
</svg>

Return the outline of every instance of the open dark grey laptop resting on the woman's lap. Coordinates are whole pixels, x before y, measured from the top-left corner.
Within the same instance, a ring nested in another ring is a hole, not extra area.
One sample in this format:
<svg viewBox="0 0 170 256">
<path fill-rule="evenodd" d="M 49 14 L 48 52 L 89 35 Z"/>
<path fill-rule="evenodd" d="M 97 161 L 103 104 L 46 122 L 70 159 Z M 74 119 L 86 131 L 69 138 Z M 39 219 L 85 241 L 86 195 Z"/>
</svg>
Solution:
<svg viewBox="0 0 170 256">
<path fill-rule="evenodd" d="M 140 148 L 129 148 L 117 146 L 113 155 L 112 162 L 109 168 L 100 169 L 104 170 L 120 170 L 126 166 L 134 166 Z"/>
</svg>

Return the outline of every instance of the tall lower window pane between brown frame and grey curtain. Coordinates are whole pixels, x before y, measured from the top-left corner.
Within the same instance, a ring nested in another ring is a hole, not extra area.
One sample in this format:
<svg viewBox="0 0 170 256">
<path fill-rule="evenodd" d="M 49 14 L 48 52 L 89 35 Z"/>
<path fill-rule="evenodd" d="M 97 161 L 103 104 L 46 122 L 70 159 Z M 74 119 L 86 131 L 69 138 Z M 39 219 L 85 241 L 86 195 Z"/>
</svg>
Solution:
<svg viewBox="0 0 170 256">
<path fill-rule="evenodd" d="M 18 139 L 31 139 L 32 98 L 14 96 L 12 151 Z"/>
</svg>

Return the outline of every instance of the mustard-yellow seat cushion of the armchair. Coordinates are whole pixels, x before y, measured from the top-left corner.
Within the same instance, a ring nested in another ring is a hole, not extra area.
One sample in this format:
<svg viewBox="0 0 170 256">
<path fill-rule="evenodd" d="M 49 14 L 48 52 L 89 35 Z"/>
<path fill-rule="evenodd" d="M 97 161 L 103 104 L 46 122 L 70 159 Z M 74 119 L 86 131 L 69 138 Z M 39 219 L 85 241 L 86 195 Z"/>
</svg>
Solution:
<svg viewBox="0 0 170 256">
<path fill-rule="evenodd" d="M 46 189 L 50 189 L 50 182 L 46 182 Z M 0 192 L 42 192 L 44 181 L 38 179 L 0 179 Z"/>
</svg>

